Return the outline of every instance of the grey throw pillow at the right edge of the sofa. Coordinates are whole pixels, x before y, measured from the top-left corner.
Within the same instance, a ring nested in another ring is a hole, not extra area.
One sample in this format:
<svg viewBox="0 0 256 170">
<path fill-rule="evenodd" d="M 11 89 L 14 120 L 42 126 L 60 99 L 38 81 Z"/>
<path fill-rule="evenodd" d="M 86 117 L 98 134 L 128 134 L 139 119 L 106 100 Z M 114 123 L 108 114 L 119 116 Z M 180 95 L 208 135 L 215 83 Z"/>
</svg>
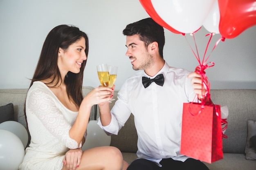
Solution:
<svg viewBox="0 0 256 170">
<path fill-rule="evenodd" d="M 247 121 L 247 143 L 245 147 L 245 159 L 256 160 L 256 148 L 250 140 L 251 137 L 256 135 L 256 120 Z"/>
</svg>

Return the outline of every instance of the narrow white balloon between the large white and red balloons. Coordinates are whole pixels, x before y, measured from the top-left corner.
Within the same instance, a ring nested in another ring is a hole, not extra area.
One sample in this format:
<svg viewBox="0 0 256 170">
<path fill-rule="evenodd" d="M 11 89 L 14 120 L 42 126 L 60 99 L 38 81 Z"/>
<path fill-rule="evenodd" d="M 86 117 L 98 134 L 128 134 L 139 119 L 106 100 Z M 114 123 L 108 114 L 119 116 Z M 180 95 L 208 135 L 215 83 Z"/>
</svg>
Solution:
<svg viewBox="0 0 256 170">
<path fill-rule="evenodd" d="M 213 7 L 208 14 L 207 18 L 204 20 L 204 28 L 210 33 L 220 33 L 219 31 L 219 23 L 220 23 L 220 10 L 218 0 L 214 0 Z"/>
</svg>

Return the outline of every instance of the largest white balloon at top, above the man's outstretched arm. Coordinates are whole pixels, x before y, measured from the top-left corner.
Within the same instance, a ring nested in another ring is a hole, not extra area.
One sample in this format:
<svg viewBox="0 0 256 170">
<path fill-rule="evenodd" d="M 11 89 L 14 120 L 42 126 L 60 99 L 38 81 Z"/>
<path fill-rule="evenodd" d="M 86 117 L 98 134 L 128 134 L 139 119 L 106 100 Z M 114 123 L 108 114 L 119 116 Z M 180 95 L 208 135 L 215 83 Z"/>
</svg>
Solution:
<svg viewBox="0 0 256 170">
<path fill-rule="evenodd" d="M 151 0 L 159 15 L 173 29 L 193 33 L 200 29 L 214 0 Z"/>
</svg>

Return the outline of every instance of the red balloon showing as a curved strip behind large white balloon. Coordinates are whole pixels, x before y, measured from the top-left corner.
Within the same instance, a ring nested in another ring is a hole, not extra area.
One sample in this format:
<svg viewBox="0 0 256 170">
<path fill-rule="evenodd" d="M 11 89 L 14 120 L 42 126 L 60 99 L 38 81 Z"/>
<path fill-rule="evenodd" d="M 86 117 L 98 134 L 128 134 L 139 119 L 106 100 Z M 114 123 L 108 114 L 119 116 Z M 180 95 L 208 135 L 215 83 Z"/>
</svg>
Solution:
<svg viewBox="0 0 256 170">
<path fill-rule="evenodd" d="M 146 12 L 148 13 L 148 15 L 155 21 L 157 22 L 157 24 L 163 26 L 164 28 L 168 29 L 169 31 L 172 31 L 173 33 L 176 34 L 180 34 L 181 32 L 173 29 L 170 25 L 166 24 L 166 22 L 164 22 L 164 20 L 162 20 L 161 17 L 159 17 L 159 15 L 157 14 L 157 12 L 155 11 L 151 0 L 139 0 L 139 2 L 141 3 L 142 7 L 146 10 Z"/>
</svg>

